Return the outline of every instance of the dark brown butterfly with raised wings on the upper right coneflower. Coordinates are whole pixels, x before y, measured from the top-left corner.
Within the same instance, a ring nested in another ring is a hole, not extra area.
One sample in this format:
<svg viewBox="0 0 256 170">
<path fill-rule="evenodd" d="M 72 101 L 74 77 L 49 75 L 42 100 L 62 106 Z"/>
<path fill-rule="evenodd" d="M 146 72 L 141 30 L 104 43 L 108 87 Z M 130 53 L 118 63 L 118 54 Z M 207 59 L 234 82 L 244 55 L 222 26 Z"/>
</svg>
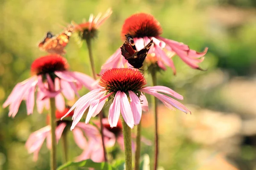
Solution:
<svg viewBox="0 0 256 170">
<path fill-rule="evenodd" d="M 148 45 L 137 51 L 134 43 L 134 39 L 130 34 L 125 35 L 126 40 L 121 47 L 122 56 L 131 64 L 134 68 L 140 69 L 143 66 L 143 62 L 148 54 L 148 51 L 153 43 L 151 40 Z"/>
</svg>

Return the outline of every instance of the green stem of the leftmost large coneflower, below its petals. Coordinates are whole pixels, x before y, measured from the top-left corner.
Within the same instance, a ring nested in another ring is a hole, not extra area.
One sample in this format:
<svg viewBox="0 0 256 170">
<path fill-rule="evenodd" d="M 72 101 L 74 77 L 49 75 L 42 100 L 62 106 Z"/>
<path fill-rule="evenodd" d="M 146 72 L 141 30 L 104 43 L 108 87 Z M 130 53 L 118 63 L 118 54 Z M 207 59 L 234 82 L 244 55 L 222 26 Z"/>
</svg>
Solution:
<svg viewBox="0 0 256 170">
<path fill-rule="evenodd" d="M 55 98 L 50 98 L 50 123 L 51 123 L 51 138 L 52 138 L 52 149 L 51 149 L 51 170 L 56 170 L 57 161 L 56 161 L 56 122 L 55 122 Z"/>
</svg>

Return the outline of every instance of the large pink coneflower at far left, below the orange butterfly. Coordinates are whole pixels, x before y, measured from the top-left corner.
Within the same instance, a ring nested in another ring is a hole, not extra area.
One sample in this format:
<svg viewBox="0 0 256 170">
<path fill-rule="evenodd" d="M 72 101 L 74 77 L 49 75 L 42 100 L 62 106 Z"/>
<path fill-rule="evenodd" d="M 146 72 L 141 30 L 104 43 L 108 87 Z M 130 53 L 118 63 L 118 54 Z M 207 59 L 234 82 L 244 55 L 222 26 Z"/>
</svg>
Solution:
<svg viewBox="0 0 256 170">
<path fill-rule="evenodd" d="M 39 113 L 44 107 L 49 109 L 49 98 L 55 97 L 56 108 L 64 111 L 65 100 L 62 94 L 73 100 L 75 94 L 83 86 L 92 90 L 93 78 L 76 72 L 68 71 L 67 59 L 57 54 L 51 54 L 35 59 L 31 65 L 32 77 L 15 85 L 12 93 L 3 103 L 9 105 L 9 116 L 14 117 L 22 100 L 26 101 L 27 114 L 33 113 L 35 105 L 35 91 L 37 91 L 36 104 Z"/>
</svg>

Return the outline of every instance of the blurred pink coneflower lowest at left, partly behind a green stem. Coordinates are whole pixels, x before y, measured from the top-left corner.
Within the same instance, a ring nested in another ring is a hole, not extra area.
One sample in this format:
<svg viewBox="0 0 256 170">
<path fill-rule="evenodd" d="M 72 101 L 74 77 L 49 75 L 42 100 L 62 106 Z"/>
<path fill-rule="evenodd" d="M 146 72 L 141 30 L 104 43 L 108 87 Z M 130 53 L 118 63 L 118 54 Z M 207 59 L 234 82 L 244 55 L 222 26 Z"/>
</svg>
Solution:
<svg viewBox="0 0 256 170">
<path fill-rule="evenodd" d="M 56 111 L 56 118 L 59 119 L 65 113 L 67 113 L 69 109 L 64 109 L 63 112 Z M 73 112 L 70 112 L 68 116 L 72 116 Z M 57 121 L 57 127 L 55 130 L 56 141 L 58 142 L 61 139 L 61 135 L 64 132 L 65 127 L 71 124 L 71 121 Z M 76 128 L 72 131 L 75 143 L 82 149 L 88 147 L 88 141 L 93 141 L 95 145 L 100 145 L 100 133 L 99 130 L 93 125 L 87 125 L 85 123 L 79 122 Z M 84 136 L 85 134 L 85 136 Z M 38 160 L 38 153 L 41 149 L 44 140 L 47 140 L 47 148 L 51 149 L 51 126 L 47 125 L 35 132 L 33 132 L 26 141 L 25 147 L 29 153 L 34 153 L 34 161 Z M 93 147 L 93 146 L 92 146 Z M 93 147 L 94 148 L 94 147 Z M 94 159 L 95 160 L 95 159 Z M 96 159 L 96 161 L 102 161 Z"/>
</svg>

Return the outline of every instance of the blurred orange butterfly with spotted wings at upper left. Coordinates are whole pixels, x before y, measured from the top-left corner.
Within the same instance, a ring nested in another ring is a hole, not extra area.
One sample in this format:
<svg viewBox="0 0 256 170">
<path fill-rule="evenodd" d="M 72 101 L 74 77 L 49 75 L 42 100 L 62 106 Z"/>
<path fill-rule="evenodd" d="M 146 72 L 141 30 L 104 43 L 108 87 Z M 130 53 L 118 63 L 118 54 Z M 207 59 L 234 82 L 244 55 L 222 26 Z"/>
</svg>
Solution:
<svg viewBox="0 0 256 170">
<path fill-rule="evenodd" d="M 56 36 L 51 32 L 47 32 L 44 40 L 38 44 L 39 49 L 51 54 L 65 54 L 66 51 L 64 48 L 69 42 L 69 38 L 72 35 L 73 30 L 74 26 L 69 25 L 61 34 Z"/>
</svg>

